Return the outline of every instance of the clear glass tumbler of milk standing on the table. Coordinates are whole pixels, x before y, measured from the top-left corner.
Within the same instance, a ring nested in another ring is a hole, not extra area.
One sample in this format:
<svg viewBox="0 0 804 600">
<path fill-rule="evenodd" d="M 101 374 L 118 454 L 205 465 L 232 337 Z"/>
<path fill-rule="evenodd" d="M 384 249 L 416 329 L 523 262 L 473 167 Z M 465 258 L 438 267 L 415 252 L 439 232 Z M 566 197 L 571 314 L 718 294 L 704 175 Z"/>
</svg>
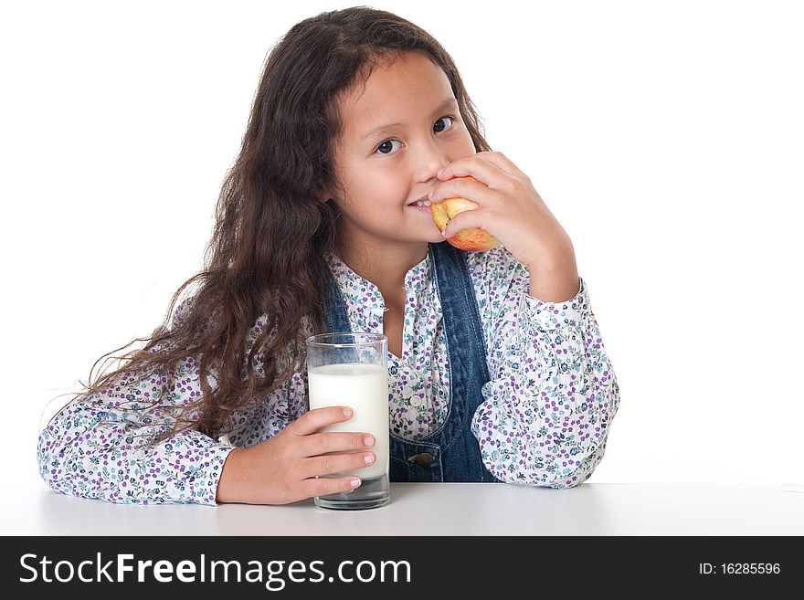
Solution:
<svg viewBox="0 0 804 600">
<path fill-rule="evenodd" d="M 376 439 L 373 465 L 329 477 L 356 475 L 363 483 L 350 491 L 320 496 L 324 509 L 374 509 L 391 500 L 388 484 L 388 338 L 367 332 L 321 333 L 307 339 L 310 409 L 351 406 L 348 421 L 322 431 L 370 433 Z"/>
</svg>

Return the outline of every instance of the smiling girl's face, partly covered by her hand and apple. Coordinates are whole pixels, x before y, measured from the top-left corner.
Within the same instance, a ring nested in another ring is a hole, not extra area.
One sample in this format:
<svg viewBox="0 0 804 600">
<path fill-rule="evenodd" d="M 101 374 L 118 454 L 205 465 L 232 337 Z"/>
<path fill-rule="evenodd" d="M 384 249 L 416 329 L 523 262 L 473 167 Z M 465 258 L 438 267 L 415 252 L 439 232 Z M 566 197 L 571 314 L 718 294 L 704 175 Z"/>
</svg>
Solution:
<svg viewBox="0 0 804 600">
<path fill-rule="evenodd" d="M 378 65 L 339 108 L 344 133 L 335 158 L 345 195 L 329 197 L 342 211 L 340 241 L 397 255 L 444 241 L 429 208 L 411 206 L 427 199 L 441 168 L 475 153 L 444 71 L 405 52 Z"/>
</svg>

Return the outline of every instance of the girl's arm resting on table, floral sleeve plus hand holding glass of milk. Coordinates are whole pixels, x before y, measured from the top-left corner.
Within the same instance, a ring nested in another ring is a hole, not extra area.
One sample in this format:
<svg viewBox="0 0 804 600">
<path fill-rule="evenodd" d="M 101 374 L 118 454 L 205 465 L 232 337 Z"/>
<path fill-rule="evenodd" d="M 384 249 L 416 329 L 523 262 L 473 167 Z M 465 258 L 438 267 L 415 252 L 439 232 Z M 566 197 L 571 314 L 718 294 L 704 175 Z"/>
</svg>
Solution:
<svg viewBox="0 0 804 600">
<path fill-rule="evenodd" d="M 263 315 L 255 327 L 264 326 Z M 252 333 L 253 341 L 256 329 Z M 344 407 L 302 415 L 299 374 L 241 406 L 232 414 L 233 430 L 220 439 L 195 429 L 153 439 L 169 433 L 177 409 L 201 395 L 196 362 L 188 357 L 174 373 L 126 376 L 67 405 L 39 435 L 42 478 L 62 493 L 111 502 L 284 504 L 354 489 L 359 478 L 316 476 L 376 459 L 373 437 L 318 432 L 351 418 Z"/>
</svg>

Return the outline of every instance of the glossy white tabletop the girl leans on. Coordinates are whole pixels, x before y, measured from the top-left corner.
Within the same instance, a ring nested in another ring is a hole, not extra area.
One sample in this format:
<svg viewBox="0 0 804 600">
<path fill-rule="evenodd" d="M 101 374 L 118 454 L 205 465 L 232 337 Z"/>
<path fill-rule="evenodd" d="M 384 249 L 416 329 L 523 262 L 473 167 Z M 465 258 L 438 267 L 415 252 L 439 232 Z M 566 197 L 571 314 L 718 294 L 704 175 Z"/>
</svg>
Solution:
<svg viewBox="0 0 804 600">
<path fill-rule="evenodd" d="M 396 483 L 370 511 L 285 506 L 134 506 L 44 483 L 5 491 L 4 534 L 27 535 L 804 535 L 801 484 Z"/>
</svg>

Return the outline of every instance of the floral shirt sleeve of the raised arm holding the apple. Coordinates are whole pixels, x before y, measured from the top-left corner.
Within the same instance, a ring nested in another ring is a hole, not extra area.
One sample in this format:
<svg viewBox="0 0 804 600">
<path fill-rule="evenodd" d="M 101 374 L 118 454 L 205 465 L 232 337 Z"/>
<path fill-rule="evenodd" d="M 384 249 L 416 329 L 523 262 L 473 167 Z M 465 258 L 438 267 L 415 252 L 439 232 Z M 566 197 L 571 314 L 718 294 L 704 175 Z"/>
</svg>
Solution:
<svg viewBox="0 0 804 600">
<path fill-rule="evenodd" d="M 469 260 L 491 381 L 472 419 L 497 479 L 556 489 L 587 480 L 603 458 L 619 385 L 592 313 L 586 282 L 546 302 L 504 247 Z"/>
</svg>

